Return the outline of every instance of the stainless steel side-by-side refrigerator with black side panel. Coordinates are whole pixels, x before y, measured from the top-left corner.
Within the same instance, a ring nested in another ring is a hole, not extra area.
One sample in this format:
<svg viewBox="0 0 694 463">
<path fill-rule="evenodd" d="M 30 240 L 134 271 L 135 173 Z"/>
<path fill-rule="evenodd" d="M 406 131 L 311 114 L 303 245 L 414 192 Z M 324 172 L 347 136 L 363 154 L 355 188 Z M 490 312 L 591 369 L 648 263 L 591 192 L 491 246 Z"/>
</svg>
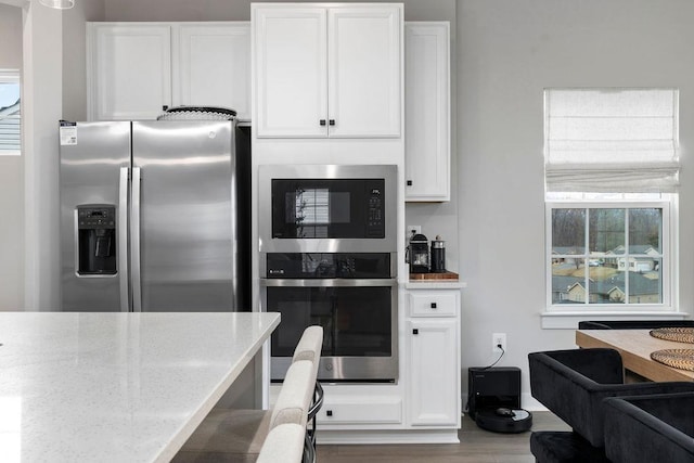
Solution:
<svg viewBox="0 0 694 463">
<path fill-rule="evenodd" d="M 60 136 L 63 310 L 249 309 L 235 120 L 61 121 Z"/>
</svg>

